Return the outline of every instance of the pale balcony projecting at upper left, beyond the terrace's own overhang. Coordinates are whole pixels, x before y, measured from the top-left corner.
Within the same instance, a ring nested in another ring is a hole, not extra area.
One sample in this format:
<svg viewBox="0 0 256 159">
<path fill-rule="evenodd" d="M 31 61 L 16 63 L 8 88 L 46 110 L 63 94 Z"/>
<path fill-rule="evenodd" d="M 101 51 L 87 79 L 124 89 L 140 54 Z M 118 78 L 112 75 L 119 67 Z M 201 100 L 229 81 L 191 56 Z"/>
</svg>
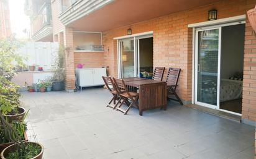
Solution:
<svg viewBox="0 0 256 159">
<path fill-rule="evenodd" d="M 50 3 L 44 3 L 32 21 L 32 39 L 52 41 L 52 14 Z"/>
</svg>

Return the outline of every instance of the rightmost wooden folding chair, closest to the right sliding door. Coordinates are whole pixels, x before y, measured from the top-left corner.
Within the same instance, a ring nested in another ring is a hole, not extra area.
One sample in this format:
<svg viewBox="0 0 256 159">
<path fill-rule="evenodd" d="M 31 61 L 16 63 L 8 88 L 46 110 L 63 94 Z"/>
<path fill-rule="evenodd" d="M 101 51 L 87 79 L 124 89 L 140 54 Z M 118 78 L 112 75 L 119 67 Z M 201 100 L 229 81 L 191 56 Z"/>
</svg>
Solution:
<svg viewBox="0 0 256 159">
<path fill-rule="evenodd" d="M 180 77 L 180 71 L 179 68 L 169 68 L 168 74 L 167 74 L 167 98 L 168 100 L 175 100 L 180 102 L 181 105 L 183 105 L 183 102 L 181 101 L 180 97 L 178 97 L 176 93 L 176 88 L 178 87 L 178 80 Z M 175 98 L 171 98 L 170 96 L 174 95 Z"/>
</svg>

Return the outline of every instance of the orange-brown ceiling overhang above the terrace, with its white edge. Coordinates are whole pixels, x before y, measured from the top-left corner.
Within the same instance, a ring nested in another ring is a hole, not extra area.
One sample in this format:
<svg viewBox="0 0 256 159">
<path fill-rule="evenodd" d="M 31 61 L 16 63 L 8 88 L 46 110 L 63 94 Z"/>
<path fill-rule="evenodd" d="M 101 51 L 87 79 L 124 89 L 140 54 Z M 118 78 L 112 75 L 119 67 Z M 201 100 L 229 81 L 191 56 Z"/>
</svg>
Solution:
<svg viewBox="0 0 256 159">
<path fill-rule="evenodd" d="M 64 25 L 73 27 L 74 30 L 104 32 L 217 1 L 219 0 L 94 0 L 94 3 L 84 5 L 81 2 L 87 1 L 78 1 L 64 11 L 60 19 Z M 81 7 L 83 10 L 78 12 Z"/>
</svg>

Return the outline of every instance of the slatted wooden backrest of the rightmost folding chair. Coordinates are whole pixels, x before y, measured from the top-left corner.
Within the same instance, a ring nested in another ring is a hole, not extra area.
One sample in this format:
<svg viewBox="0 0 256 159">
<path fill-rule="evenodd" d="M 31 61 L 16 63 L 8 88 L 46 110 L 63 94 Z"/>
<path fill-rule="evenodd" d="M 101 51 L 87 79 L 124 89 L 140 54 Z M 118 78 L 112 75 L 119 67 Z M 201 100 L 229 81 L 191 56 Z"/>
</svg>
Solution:
<svg viewBox="0 0 256 159">
<path fill-rule="evenodd" d="M 167 80 L 166 80 L 167 85 L 173 85 L 173 87 L 175 87 L 176 89 L 176 86 L 178 84 L 178 80 L 180 77 L 180 71 L 181 69 L 179 68 L 172 68 L 172 67 L 169 68 L 169 71 L 167 74 Z"/>
</svg>

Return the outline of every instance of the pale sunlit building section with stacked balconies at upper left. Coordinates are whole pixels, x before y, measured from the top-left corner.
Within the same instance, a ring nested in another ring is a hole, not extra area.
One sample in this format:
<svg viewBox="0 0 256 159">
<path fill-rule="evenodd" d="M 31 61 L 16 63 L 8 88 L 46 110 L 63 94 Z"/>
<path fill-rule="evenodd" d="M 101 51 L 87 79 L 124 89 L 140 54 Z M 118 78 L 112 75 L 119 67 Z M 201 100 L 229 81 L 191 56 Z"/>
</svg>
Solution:
<svg viewBox="0 0 256 159">
<path fill-rule="evenodd" d="M 30 17 L 31 38 L 34 41 L 53 41 L 52 8 L 50 0 L 26 0 L 25 14 Z"/>
</svg>

